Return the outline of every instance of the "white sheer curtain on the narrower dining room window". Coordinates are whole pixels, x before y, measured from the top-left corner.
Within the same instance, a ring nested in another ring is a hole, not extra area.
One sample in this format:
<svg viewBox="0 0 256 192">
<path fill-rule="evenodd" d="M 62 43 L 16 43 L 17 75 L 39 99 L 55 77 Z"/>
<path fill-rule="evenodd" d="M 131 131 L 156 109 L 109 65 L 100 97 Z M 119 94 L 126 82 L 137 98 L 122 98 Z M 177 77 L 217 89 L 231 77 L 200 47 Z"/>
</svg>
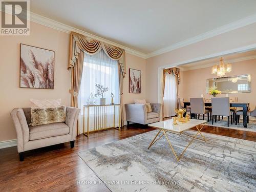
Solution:
<svg viewBox="0 0 256 192">
<path fill-rule="evenodd" d="M 165 86 L 163 95 L 163 117 L 175 116 L 176 108 L 176 77 L 173 73 L 165 75 Z"/>
</svg>

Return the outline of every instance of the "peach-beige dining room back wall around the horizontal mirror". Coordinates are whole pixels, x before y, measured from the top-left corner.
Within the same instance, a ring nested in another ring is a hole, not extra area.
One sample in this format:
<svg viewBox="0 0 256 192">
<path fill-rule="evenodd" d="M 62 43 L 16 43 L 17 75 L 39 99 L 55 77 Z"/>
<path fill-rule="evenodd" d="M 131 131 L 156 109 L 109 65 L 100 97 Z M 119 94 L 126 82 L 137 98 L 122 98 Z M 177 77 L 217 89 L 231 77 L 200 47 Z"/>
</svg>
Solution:
<svg viewBox="0 0 256 192">
<path fill-rule="evenodd" d="M 230 93 L 229 97 L 238 97 L 240 102 L 249 102 L 250 108 L 254 109 L 256 105 L 256 59 L 232 63 L 232 71 L 225 76 L 251 74 L 251 93 Z M 211 68 L 196 69 L 184 71 L 182 76 L 182 93 L 181 97 L 189 101 L 190 97 L 209 98 L 206 94 L 206 79 L 215 78 L 216 74 L 211 74 Z M 218 96 L 225 97 L 225 94 Z"/>
</svg>

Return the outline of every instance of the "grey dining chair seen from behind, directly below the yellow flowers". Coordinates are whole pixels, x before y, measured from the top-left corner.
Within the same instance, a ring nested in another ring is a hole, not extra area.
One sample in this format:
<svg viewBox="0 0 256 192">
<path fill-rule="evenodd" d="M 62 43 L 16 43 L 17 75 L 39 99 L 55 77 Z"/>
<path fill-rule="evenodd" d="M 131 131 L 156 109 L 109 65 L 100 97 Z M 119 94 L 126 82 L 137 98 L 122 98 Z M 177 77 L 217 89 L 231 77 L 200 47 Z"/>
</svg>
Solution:
<svg viewBox="0 0 256 192">
<path fill-rule="evenodd" d="M 226 116 L 227 117 L 227 126 L 229 126 L 229 117 L 231 117 L 231 124 L 233 124 L 233 115 L 229 109 L 229 97 L 216 97 L 211 98 L 211 106 L 212 106 L 212 118 L 211 124 L 217 122 L 217 116 Z"/>
</svg>

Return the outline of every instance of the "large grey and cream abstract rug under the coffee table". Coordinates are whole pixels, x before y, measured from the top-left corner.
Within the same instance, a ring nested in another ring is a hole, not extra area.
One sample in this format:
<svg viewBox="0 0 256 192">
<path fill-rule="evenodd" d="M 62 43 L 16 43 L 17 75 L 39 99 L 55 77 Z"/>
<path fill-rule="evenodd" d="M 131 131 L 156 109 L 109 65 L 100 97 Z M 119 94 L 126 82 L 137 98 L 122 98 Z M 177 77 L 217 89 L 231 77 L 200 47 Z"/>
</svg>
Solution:
<svg viewBox="0 0 256 192">
<path fill-rule="evenodd" d="M 203 133 L 180 162 L 157 131 L 79 152 L 112 191 L 256 191 L 256 142 Z M 195 134 L 195 131 L 188 131 Z M 180 154 L 190 137 L 168 134 Z"/>
</svg>

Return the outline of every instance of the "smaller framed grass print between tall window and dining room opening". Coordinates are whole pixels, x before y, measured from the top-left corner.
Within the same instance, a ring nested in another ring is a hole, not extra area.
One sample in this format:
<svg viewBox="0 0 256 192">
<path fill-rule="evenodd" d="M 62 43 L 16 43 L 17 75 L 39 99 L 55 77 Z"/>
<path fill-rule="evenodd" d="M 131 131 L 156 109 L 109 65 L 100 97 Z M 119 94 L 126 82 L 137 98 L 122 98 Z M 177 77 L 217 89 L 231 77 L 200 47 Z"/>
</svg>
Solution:
<svg viewBox="0 0 256 192">
<path fill-rule="evenodd" d="M 129 93 L 141 93 L 141 71 L 129 69 Z"/>
</svg>

